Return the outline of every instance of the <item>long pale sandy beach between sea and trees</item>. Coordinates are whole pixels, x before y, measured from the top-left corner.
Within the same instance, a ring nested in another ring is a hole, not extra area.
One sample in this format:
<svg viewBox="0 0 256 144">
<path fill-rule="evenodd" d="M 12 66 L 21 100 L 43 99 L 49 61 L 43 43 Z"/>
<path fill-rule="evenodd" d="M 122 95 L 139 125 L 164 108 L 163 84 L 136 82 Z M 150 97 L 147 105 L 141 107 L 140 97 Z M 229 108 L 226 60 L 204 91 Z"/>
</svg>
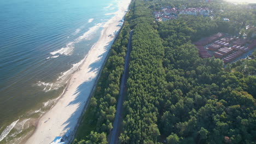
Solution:
<svg viewBox="0 0 256 144">
<path fill-rule="evenodd" d="M 108 35 L 120 29 L 119 21 L 123 19 L 129 7 L 130 0 L 119 1 L 119 10 L 105 23 L 100 39 L 91 48 L 80 69 L 70 78 L 65 93 L 56 105 L 39 119 L 36 130 L 26 143 L 48 144 L 56 136 L 65 135 L 68 129 L 74 131 L 113 43 L 114 38 Z"/>
</svg>

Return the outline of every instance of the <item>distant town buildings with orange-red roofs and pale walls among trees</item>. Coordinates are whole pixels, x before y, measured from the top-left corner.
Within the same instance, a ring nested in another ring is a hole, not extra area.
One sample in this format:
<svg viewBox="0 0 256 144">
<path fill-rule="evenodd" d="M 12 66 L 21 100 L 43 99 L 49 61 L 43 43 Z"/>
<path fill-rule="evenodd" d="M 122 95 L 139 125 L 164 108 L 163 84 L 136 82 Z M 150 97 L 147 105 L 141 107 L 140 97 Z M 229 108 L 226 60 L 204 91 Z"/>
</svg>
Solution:
<svg viewBox="0 0 256 144">
<path fill-rule="evenodd" d="M 208 8 L 162 8 L 161 11 L 154 11 L 156 21 L 168 21 L 177 19 L 178 15 L 202 15 L 209 16 L 210 10 Z"/>
</svg>

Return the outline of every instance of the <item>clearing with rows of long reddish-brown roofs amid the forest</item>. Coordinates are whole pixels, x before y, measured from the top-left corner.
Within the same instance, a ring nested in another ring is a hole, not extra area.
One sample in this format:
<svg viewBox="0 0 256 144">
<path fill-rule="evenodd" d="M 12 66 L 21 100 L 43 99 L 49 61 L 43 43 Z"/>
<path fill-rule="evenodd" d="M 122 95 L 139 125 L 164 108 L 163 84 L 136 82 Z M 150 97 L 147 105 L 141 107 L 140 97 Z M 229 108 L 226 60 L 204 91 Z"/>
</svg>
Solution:
<svg viewBox="0 0 256 144">
<path fill-rule="evenodd" d="M 217 33 L 194 43 L 202 58 L 216 57 L 230 63 L 249 55 L 256 47 L 256 40 L 231 37 L 224 33 Z"/>
</svg>

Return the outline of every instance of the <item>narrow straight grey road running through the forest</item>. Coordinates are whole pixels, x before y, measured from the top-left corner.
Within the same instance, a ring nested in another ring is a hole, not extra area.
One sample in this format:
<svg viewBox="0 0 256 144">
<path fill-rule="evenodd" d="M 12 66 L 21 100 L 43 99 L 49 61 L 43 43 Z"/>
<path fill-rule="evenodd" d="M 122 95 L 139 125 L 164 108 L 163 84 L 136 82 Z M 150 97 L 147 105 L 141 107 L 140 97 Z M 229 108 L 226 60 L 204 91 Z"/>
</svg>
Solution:
<svg viewBox="0 0 256 144">
<path fill-rule="evenodd" d="M 122 113 L 123 113 L 123 103 L 124 103 L 124 94 L 125 94 L 125 87 L 129 72 L 129 59 L 131 54 L 131 38 L 132 38 L 132 31 L 130 32 L 130 38 L 127 45 L 127 53 L 125 56 L 125 65 L 124 65 L 124 73 L 121 79 L 121 86 L 120 86 L 120 92 L 119 92 L 119 99 L 118 99 L 118 105 L 117 105 L 117 112 L 115 113 L 115 119 L 112 129 L 112 134 L 110 137 L 110 144 L 118 143 L 118 136 L 119 131 L 121 129 L 121 123 L 122 123 Z"/>
</svg>

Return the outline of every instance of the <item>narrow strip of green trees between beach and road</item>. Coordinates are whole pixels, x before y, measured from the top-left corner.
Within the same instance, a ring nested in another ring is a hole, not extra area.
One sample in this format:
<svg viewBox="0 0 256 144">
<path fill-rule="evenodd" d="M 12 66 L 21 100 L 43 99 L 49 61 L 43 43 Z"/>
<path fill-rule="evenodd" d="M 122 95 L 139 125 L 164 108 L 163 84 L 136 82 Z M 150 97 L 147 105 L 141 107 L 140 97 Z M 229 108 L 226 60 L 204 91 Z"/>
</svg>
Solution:
<svg viewBox="0 0 256 144">
<path fill-rule="evenodd" d="M 107 143 L 107 135 L 113 128 L 120 79 L 124 71 L 124 57 L 131 31 L 127 25 L 125 22 L 110 49 L 73 143 Z"/>
</svg>

